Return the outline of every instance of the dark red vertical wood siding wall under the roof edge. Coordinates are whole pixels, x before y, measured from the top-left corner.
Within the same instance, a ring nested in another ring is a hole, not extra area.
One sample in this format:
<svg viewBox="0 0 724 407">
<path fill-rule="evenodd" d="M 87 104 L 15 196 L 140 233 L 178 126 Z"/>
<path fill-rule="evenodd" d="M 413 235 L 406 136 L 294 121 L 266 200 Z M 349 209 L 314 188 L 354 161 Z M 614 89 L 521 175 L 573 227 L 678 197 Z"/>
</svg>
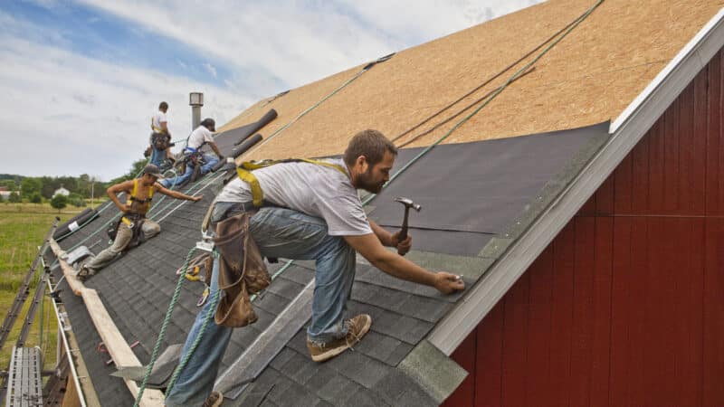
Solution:
<svg viewBox="0 0 724 407">
<path fill-rule="evenodd" d="M 444 405 L 724 405 L 722 62 L 452 354 Z"/>
</svg>

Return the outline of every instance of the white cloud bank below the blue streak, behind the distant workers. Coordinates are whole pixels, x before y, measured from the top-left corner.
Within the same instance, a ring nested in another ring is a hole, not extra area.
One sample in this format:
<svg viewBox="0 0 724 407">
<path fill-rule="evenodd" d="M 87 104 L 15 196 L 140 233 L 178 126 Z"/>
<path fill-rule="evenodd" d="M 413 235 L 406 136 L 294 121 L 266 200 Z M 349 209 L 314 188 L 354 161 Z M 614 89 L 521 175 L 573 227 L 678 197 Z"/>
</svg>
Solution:
<svg viewBox="0 0 724 407">
<path fill-rule="evenodd" d="M 0 33 L 0 61 L 0 131 L 13 151 L 0 162 L 0 173 L 85 173 L 109 180 L 127 172 L 140 157 L 160 100 L 170 105 L 169 127 L 176 138 L 186 137 L 191 127 L 190 90 L 205 92 L 204 115 L 220 123 L 254 101 L 184 77 L 100 62 L 6 32 Z"/>
</svg>

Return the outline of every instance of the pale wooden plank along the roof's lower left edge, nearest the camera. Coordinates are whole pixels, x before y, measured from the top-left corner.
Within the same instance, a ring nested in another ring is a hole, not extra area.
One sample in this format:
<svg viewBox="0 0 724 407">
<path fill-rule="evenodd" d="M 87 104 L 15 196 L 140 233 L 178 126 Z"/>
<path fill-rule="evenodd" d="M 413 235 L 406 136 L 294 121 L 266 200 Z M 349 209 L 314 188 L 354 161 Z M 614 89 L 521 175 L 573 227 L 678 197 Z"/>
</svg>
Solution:
<svg viewBox="0 0 724 407">
<path fill-rule="evenodd" d="M 103 302 L 95 289 L 82 289 L 81 296 L 88 309 L 90 318 L 93 320 L 100 339 L 108 349 L 108 353 L 117 368 L 140 366 L 138 357 L 133 353 L 126 339 L 120 334 L 118 327 L 113 323 Z M 132 380 L 126 380 L 126 386 L 134 397 L 138 395 L 138 385 Z M 146 389 L 140 402 L 141 406 L 162 406 L 164 405 L 163 393 L 154 389 Z"/>
</svg>

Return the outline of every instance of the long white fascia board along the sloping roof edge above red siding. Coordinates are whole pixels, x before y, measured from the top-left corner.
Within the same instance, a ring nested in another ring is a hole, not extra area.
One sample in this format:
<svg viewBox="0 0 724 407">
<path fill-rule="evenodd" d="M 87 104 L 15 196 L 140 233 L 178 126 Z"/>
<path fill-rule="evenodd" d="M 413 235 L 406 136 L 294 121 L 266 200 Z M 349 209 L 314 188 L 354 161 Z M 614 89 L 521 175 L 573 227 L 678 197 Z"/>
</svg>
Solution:
<svg viewBox="0 0 724 407">
<path fill-rule="evenodd" d="M 461 344 L 586 200 L 614 172 L 682 90 L 724 46 L 724 9 L 688 43 L 653 82 L 616 118 L 605 147 L 538 216 L 528 232 L 492 265 L 462 301 L 433 328 L 427 339 L 445 355 Z"/>
</svg>

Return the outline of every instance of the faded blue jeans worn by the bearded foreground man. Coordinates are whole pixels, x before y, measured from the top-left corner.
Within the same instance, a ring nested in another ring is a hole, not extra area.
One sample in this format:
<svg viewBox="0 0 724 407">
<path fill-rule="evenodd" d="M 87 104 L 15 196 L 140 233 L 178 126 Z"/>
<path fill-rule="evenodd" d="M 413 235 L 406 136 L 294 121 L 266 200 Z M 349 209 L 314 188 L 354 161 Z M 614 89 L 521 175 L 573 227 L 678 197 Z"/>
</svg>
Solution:
<svg viewBox="0 0 724 407">
<path fill-rule="evenodd" d="M 227 213 L 227 210 L 231 211 Z M 232 203 L 216 203 L 211 219 L 217 222 L 233 214 Z M 259 250 L 266 257 L 283 257 L 292 260 L 316 260 L 315 287 L 312 299 L 311 323 L 307 337 L 315 342 L 329 342 L 347 335 L 343 317 L 347 300 L 355 279 L 355 251 L 341 236 L 329 236 L 327 223 L 322 219 L 292 211 L 267 207 L 252 216 L 250 231 Z M 218 290 L 218 260 L 214 261 L 211 293 Z M 186 355 L 201 325 L 211 299 L 196 316 L 194 326 L 186 337 L 183 355 Z M 214 312 L 214 311 L 212 311 Z M 226 346 L 232 335 L 230 327 L 220 327 L 209 321 L 204 336 L 179 374 L 166 405 L 201 405 L 214 389 Z"/>
</svg>

